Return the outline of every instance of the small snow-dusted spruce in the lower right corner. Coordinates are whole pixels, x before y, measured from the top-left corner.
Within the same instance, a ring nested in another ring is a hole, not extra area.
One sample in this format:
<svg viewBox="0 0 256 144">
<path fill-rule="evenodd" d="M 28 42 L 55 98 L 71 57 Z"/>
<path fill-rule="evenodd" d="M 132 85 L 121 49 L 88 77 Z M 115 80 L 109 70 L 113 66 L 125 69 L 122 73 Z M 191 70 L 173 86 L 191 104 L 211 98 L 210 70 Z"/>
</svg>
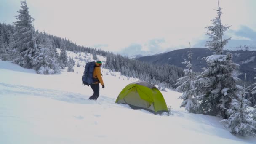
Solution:
<svg viewBox="0 0 256 144">
<path fill-rule="evenodd" d="M 232 98 L 230 109 L 228 109 L 230 117 L 221 120 L 221 122 L 227 124 L 225 128 L 230 128 L 232 134 L 239 136 L 256 136 L 256 133 L 254 133 L 256 130 L 254 127 L 256 121 L 250 116 L 252 113 L 251 110 L 248 110 L 250 101 L 246 99 L 248 88 L 245 88 L 245 82 L 243 83 L 243 87 L 238 87 L 240 91 L 236 94 L 235 99 Z"/>
</svg>

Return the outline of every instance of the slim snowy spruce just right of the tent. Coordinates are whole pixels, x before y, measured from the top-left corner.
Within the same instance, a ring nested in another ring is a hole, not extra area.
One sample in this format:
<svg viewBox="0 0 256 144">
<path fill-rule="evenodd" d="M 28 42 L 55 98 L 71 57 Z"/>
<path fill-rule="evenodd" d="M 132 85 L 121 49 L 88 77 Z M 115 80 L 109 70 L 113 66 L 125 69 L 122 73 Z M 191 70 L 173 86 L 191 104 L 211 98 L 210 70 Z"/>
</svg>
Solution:
<svg viewBox="0 0 256 144">
<path fill-rule="evenodd" d="M 179 85 L 176 88 L 176 91 L 183 92 L 182 96 L 179 99 L 182 99 L 183 102 L 180 107 L 184 107 L 188 112 L 195 112 L 193 107 L 197 103 L 195 99 L 195 87 L 193 81 L 195 80 L 195 72 L 192 71 L 192 52 L 191 48 L 187 51 L 189 54 L 188 61 L 182 62 L 182 64 L 187 64 L 187 69 L 184 69 L 184 77 L 179 78 L 176 85 Z"/>
</svg>

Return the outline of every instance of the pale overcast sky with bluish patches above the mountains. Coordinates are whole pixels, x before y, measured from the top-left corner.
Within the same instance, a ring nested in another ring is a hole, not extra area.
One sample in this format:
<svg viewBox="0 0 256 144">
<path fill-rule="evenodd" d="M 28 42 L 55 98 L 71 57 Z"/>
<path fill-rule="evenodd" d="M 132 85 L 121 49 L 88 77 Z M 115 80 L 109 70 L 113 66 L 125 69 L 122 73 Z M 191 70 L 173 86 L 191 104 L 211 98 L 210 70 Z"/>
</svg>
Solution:
<svg viewBox="0 0 256 144">
<path fill-rule="evenodd" d="M 0 22 L 12 23 L 20 0 L 0 0 Z M 27 0 L 39 31 L 107 51 L 203 47 L 217 0 Z M 256 45 L 256 0 L 220 0 L 227 37 Z M 246 33 L 249 32 L 249 33 Z"/>
</svg>

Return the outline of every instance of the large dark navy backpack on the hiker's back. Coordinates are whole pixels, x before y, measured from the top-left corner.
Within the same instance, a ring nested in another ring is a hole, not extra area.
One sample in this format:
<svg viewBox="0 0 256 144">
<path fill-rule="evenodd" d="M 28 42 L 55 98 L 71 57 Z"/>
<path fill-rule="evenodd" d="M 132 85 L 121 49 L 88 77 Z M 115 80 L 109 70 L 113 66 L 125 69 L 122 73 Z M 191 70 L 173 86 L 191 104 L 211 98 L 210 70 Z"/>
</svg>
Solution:
<svg viewBox="0 0 256 144">
<path fill-rule="evenodd" d="M 82 85 L 89 86 L 99 81 L 97 78 L 93 78 L 93 71 L 95 67 L 99 67 L 99 66 L 96 66 L 94 61 L 86 63 L 85 70 L 82 76 Z"/>
</svg>

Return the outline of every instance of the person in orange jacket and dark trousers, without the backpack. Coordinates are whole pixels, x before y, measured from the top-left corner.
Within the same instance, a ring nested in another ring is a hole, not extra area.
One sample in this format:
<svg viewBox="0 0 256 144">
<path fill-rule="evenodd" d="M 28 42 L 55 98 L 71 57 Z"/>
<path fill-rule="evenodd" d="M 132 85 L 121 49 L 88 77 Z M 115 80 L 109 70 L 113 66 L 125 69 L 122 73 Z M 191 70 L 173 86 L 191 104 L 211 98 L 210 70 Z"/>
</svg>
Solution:
<svg viewBox="0 0 256 144">
<path fill-rule="evenodd" d="M 101 83 L 102 85 L 102 88 L 105 88 L 105 85 L 103 83 L 103 80 L 102 80 L 102 75 L 101 75 L 101 65 L 102 65 L 102 62 L 101 61 L 97 61 L 95 63 L 95 68 L 94 68 L 94 71 L 93 71 L 93 78 L 96 78 L 98 79 L 98 81 L 96 81 L 95 83 L 91 84 L 91 89 L 93 89 L 93 95 L 90 96 L 89 99 L 93 99 L 93 100 L 97 100 L 98 97 L 99 97 L 99 83 Z"/>
</svg>

